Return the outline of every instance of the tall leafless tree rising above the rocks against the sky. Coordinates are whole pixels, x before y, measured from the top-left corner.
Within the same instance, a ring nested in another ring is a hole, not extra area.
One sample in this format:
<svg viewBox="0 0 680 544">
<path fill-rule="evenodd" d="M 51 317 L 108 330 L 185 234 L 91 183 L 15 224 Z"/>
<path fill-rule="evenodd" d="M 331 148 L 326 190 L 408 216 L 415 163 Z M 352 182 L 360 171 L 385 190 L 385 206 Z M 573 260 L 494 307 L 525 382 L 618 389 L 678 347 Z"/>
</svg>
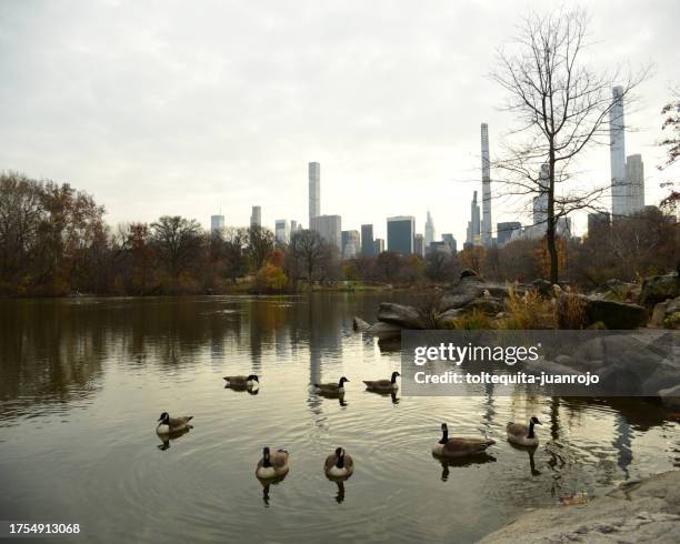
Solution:
<svg viewBox="0 0 680 544">
<path fill-rule="evenodd" d="M 508 135 L 501 158 L 493 162 L 508 194 L 544 199 L 550 281 L 559 275 L 556 225 L 574 210 L 601 210 L 607 185 L 573 188 L 577 159 L 609 134 L 614 105 L 612 88 L 630 102 L 632 90 L 649 73 L 600 73 L 586 62 L 588 18 L 581 10 L 558 10 L 524 19 L 520 36 L 498 52 L 493 81 L 508 92 L 506 110 L 518 127 Z M 541 168 L 543 164 L 547 167 Z M 541 173 L 542 172 L 542 173 Z M 561 191 L 556 192 L 557 187 Z"/>
</svg>

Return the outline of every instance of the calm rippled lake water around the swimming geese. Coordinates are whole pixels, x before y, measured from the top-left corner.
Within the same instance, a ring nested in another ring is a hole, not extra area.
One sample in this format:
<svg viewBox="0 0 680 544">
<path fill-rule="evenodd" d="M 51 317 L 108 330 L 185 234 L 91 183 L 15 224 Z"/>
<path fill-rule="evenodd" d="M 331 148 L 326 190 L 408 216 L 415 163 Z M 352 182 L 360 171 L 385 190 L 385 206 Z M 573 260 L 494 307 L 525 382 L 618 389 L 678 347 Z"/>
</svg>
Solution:
<svg viewBox="0 0 680 544">
<path fill-rule="evenodd" d="M 0 520 L 79 523 L 80 542 L 473 542 L 529 508 L 680 465 L 680 425 L 643 400 L 396 397 L 400 367 L 352 331 L 399 294 L 0 301 Z M 258 394 L 223 375 L 260 376 Z M 347 376 L 343 402 L 310 383 Z M 161 412 L 193 415 L 163 443 Z M 504 440 L 536 414 L 530 455 Z M 497 444 L 442 465 L 451 435 Z M 263 445 L 290 451 L 263 487 Z M 326 478 L 336 446 L 354 459 Z M 569 506 L 563 506 L 569 507 Z"/>
</svg>

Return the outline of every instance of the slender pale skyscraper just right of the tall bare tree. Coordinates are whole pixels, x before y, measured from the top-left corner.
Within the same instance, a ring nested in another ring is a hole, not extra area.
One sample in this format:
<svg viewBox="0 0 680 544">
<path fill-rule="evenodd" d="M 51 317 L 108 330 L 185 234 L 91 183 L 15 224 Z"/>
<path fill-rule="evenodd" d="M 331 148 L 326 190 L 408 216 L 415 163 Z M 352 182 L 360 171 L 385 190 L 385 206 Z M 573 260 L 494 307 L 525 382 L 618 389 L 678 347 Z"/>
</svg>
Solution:
<svg viewBox="0 0 680 544">
<path fill-rule="evenodd" d="M 612 219 L 628 215 L 629 191 L 626 184 L 626 125 L 623 123 L 623 88 L 612 89 L 613 105 L 609 110 L 609 152 L 611 158 Z"/>
</svg>

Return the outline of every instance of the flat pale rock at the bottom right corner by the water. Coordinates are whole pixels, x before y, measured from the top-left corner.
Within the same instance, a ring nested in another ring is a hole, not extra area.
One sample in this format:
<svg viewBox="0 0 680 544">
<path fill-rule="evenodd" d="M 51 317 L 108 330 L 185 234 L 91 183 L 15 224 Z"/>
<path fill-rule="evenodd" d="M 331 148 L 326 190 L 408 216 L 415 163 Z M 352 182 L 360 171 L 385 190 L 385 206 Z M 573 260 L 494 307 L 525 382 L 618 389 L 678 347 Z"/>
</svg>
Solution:
<svg viewBox="0 0 680 544">
<path fill-rule="evenodd" d="M 480 542 L 677 543 L 680 534 L 680 471 L 629 482 L 578 506 L 539 508 L 519 516 Z"/>
</svg>

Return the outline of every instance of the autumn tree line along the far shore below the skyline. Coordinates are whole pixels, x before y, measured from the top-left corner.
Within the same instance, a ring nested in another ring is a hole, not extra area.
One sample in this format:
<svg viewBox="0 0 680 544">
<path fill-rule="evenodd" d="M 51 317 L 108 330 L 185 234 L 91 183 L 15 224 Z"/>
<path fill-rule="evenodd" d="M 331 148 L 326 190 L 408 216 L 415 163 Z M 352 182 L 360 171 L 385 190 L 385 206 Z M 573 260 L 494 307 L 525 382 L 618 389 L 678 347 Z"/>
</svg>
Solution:
<svg viewBox="0 0 680 544">
<path fill-rule="evenodd" d="M 464 269 L 490 280 L 549 278 L 547 239 L 502 248 L 466 248 L 424 259 L 382 252 L 341 261 L 318 232 L 296 231 L 278 243 L 267 228 L 207 232 L 196 220 L 163 215 L 111 229 L 104 209 L 69 184 L 0 174 L 0 294 L 60 296 L 296 292 L 301 285 L 453 282 Z M 583 288 L 611 278 L 634 281 L 673 270 L 680 231 L 649 209 L 580 239 L 556 240 L 559 274 Z"/>
</svg>

